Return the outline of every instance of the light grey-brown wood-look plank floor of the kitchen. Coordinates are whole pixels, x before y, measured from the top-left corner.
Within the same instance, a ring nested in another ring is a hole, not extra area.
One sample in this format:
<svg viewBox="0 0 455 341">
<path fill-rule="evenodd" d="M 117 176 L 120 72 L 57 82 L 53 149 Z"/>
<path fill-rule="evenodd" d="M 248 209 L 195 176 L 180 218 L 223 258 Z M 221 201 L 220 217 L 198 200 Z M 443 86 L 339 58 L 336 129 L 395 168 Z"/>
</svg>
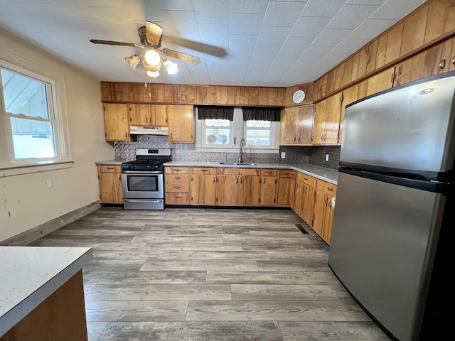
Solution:
<svg viewBox="0 0 455 341">
<path fill-rule="evenodd" d="M 390 340 L 291 210 L 102 207 L 31 245 L 92 247 L 90 341 Z"/>
</svg>

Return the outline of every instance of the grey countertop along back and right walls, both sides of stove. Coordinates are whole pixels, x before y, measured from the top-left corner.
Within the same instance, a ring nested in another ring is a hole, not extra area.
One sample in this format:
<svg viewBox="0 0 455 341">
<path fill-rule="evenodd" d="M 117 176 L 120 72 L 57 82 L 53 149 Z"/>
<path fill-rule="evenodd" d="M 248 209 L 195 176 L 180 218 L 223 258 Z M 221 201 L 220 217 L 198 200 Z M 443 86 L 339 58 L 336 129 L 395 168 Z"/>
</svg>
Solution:
<svg viewBox="0 0 455 341">
<path fill-rule="evenodd" d="M 122 161 L 97 161 L 97 165 L 121 165 Z M 337 184 L 338 171 L 325 168 L 321 166 L 311 165 L 309 163 L 304 165 L 292 165 L 285 163 L 255 163 L 252 165 L 228 165 L 219 162 L 192 162 L 192 161 L 171 161 L 164 163 L 164 166 L 177 166 L 177 167 L 223 167 L 223 168 L 276 168 L 276 169 L 293 169 L 301 173 L 305 173 L 314 178 L 327 181 L 328 183 Z"/>
</svg>

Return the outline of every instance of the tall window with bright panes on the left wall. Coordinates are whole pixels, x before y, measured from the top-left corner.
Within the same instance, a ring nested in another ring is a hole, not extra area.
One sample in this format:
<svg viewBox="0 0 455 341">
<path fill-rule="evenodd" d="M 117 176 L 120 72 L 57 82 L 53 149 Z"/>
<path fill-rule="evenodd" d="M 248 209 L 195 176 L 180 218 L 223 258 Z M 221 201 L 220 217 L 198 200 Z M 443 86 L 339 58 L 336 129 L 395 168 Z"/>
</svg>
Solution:
<svg viewBox="0 0 455 341">
<path fill-rule="evenodd" d="M 55 81 L 16 65 L 0 65 L 10 163 L 63 159 Z"/>
</svg>

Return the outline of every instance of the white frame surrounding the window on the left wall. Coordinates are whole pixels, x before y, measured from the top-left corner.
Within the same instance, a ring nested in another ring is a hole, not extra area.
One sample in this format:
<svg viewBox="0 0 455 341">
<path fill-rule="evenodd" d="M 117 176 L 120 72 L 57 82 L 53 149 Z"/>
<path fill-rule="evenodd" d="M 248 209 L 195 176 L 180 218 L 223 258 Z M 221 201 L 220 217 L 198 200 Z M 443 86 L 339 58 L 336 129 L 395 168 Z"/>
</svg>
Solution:
<svg viewBox="0 0 455 341">
<path fill-rule="evenodd" d="M 66 112 L 62 105 L 62 103 L 65 102 L 65 78 L 58 72 L 49 70 L 42 65 L 35 64 L 33 61 L 26 60 L 23 57 L 18 58 L 16 56 L 16 60 L 18 60 L 18 63 L 10 63 L 8 60 L 0 59 L 0 67 L 45 83 L 46 95 L 48 98 L 48 114 L 50 119 L 39 120 L 52 121 L 53 123 L 55 156 L 50 158 L 15 158 L 11 117 L 31 120 L 34 119 L 33 117 L 23 117 L 21 115 L 6 112 L 4 92 L 2 83 L 0 82 L 0 135 L 4 135 L 3 139 L 0 138 L 0 168 L 8 169 L 23 166 L 45 166 L 53 163 L 72 162 L 72 160 L 70 160 L 68 148 L 65 147 L 69 145 L 68 134 L 66 134 L 68 127 L 65 124 Z M 26 63 L 27 67 L 23 66 L 24 63 Z M 62 168 L 66 167 L 67 166 L 62 166 Z M 19 171 L 18 173 L 30 173 L 33 171 L 33 168 L 30 168 L 28 171 Z M 14 175 L 14 173 L 12 173 L 12 175 Z"/>
</svg>

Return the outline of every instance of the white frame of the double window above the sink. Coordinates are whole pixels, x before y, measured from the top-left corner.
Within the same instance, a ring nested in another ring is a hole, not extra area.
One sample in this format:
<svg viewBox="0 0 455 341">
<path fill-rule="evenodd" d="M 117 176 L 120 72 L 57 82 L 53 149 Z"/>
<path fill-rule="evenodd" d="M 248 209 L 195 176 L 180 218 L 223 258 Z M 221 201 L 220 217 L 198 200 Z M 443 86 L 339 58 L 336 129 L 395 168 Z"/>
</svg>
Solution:
<svg viewBox="0 0 455 341">
<path fill-rule="evenodd" d="M 197 111 L 197 109 L 196 109 Z M 197 112 L 196 112 L 196 117 Z M 227 153 L 238 153 L 240 148 L 240 140 L 246 134 L 246 125 L 243 121 L 242 108 L 234 108 L 234 119 L 232 121 L 232 138 L 228 145 L 214 145 L 210 146 L 205 144 L 205 131 L 203 120 L 196 120 L 196 151 L 220 151 Z M 279 121 L 272 122 L 272 133 L 270 136 L 272 146 L 245 146 L 248 153 L 279 153 Z"/>
</svg>

